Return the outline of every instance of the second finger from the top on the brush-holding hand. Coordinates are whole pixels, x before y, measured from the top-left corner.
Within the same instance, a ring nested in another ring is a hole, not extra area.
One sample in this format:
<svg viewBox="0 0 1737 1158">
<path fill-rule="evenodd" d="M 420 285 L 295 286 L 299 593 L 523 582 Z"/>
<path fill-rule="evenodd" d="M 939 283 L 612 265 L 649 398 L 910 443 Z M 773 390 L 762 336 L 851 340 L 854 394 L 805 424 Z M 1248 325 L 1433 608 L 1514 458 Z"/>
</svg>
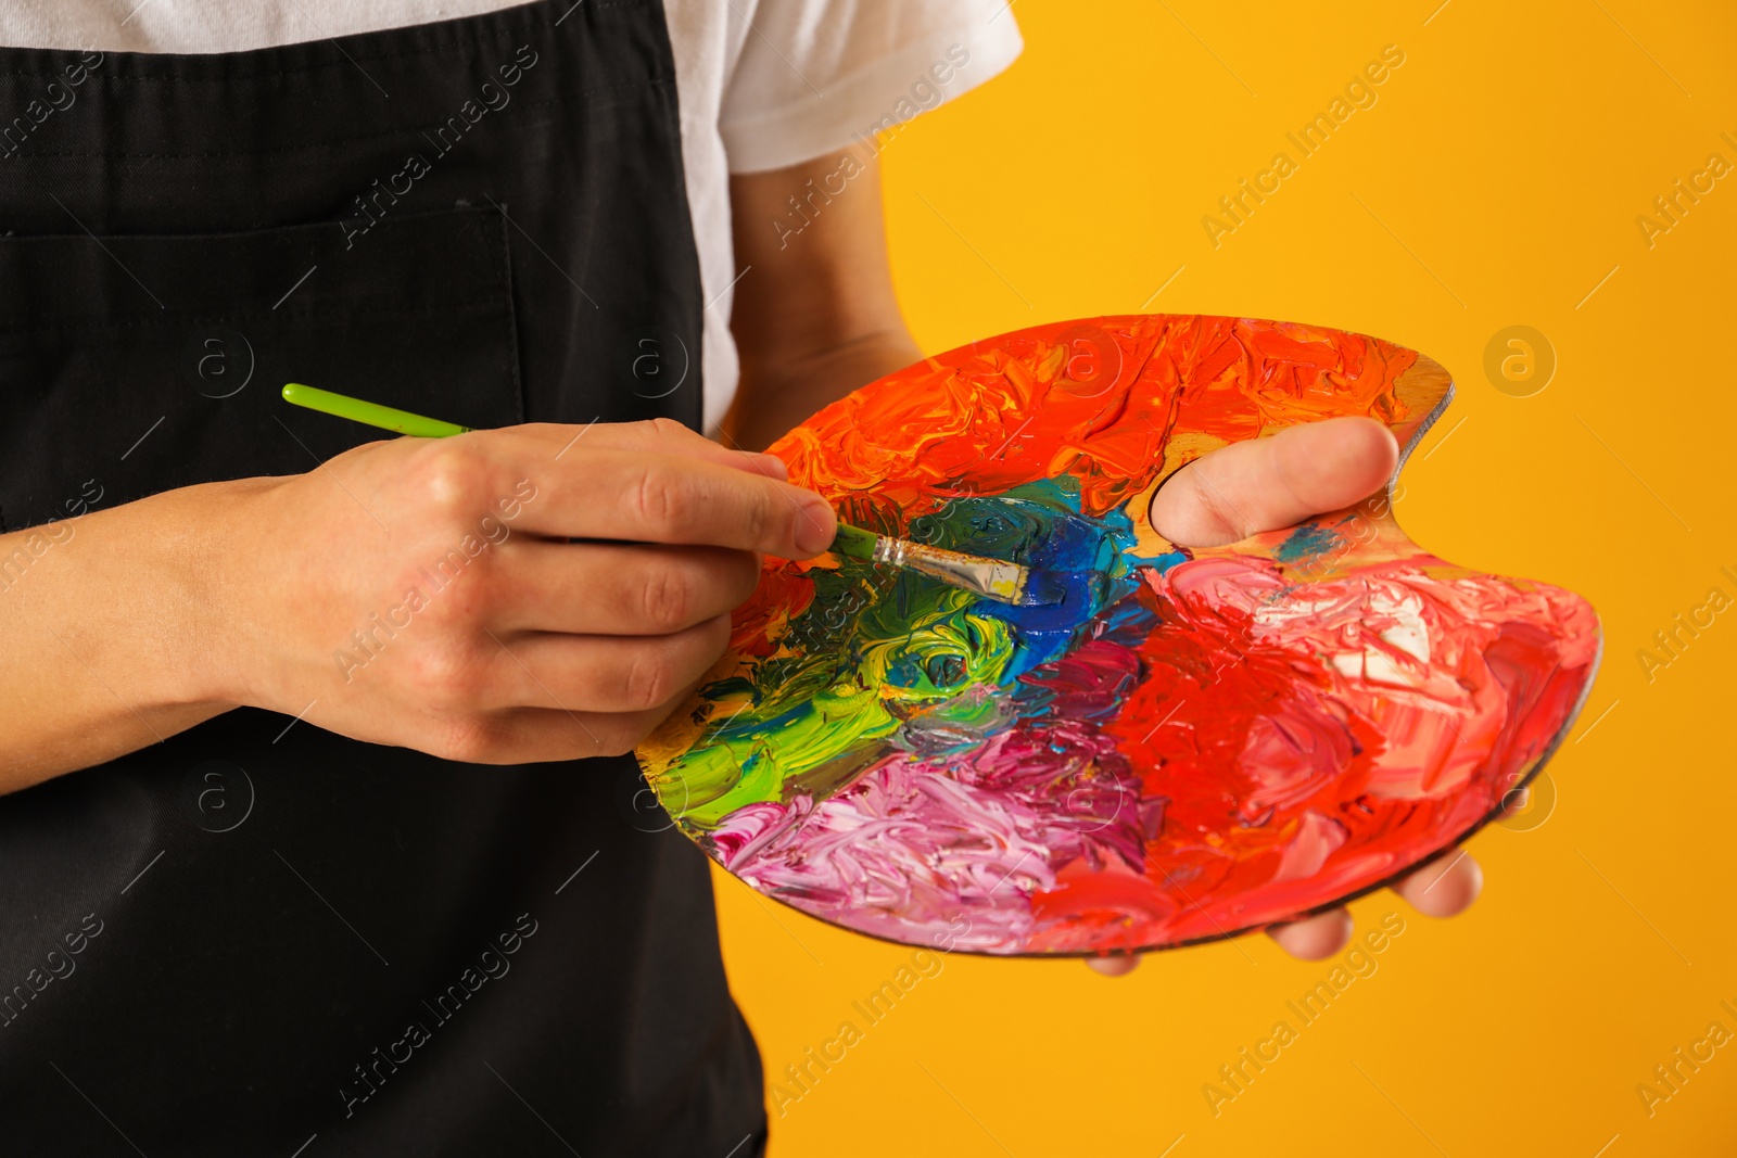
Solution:
<svg viewBox="0 0 1737 1158">
<path fill-rule="evenodd" d="M 516 538 L 499 569 L 507 587 L 490 625 L 500 632 L 667 635 L 742 606 L 759 573 L 757 556 L 724 547 Z"/>
</svg>

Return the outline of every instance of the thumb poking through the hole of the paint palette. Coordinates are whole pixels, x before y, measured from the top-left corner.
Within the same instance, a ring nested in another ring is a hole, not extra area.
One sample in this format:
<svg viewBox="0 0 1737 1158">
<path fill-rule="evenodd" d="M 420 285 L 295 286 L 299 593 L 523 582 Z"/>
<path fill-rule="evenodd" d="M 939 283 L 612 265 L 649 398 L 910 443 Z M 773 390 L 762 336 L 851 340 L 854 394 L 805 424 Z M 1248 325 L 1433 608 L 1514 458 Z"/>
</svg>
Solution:
<svg viewBox="0 0 1737 1158">
<path fill-rule="evenodd" d="M 1172 474 L 1152 526 L 1179 547 L 1219 547 L 1367 498 L 1393 477 L 1398 443 L 1374 418 L 1327 418 L 1214 450 Z"/>
</svg>

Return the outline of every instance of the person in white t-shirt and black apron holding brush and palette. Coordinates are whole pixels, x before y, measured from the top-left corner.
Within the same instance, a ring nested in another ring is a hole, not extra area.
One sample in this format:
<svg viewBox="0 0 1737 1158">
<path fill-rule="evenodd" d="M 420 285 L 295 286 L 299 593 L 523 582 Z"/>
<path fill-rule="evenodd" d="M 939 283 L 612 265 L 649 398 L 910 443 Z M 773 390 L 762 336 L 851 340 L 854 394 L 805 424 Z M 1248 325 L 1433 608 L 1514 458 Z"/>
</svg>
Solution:
<svg viewBox="0 0 1737 1158">
<path fill-rule="evenodd" d="M 42 0 L 0 43 L 9 1148 L 756 1153 L 705 861 L 624 753 L 757 556 L 830 542 L 754 451 L 919 356 L 872 134 L 1013 16 Z M 1320 424 L 1153 517 L 1230 542 L 1393 460 Z"/>
</svg>

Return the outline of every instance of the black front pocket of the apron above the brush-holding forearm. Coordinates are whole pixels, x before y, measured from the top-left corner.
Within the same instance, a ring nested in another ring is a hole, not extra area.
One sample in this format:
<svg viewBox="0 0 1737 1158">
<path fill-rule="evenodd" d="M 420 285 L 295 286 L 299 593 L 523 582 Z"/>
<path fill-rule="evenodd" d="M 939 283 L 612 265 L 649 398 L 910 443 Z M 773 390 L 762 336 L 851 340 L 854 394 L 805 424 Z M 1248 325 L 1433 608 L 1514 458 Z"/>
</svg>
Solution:
<svg viewBox="0 0 1737 1158">
<path fill-rule="evenodd" d="M 525 420 L 499 212 L 208 236 L 0 238 L 0 530 L 302 474 L 393 438 L 285 382 L 467 427 Z"/>
</svg>

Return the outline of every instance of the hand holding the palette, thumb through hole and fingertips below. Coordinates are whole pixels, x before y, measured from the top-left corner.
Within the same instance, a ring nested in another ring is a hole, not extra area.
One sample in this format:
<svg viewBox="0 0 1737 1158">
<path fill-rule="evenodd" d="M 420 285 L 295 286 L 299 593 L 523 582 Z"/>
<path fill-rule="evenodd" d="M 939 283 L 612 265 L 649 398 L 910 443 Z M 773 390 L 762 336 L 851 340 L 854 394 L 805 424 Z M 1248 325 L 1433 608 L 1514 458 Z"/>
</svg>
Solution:
<svg viewBox="0 0 1737 1158">
<path fill-rule="evenodd" d="M 1386 484 L 1398 444 L 1370 418 L 1329 418 L 1273 438 L 1233 443 L 1178 470 L 1152 502 L 1152 524 L 1181 547 L 1219 547 L 1275 531 L 1310 516 L 1357 503 Z M 1483 885 L 1478 863 L 1450 854 L 1393 885 L 1424 917 L 1452 917 Z M 1351 915 L 1334 908 L 1304 920 L 1270 925 L 1266 936 L 1303 960 L 1322 960 L 1346 946 Z M 1131 972 L 1138 957 L 1087 962 L 1106 976 Z"/>
</svg>

